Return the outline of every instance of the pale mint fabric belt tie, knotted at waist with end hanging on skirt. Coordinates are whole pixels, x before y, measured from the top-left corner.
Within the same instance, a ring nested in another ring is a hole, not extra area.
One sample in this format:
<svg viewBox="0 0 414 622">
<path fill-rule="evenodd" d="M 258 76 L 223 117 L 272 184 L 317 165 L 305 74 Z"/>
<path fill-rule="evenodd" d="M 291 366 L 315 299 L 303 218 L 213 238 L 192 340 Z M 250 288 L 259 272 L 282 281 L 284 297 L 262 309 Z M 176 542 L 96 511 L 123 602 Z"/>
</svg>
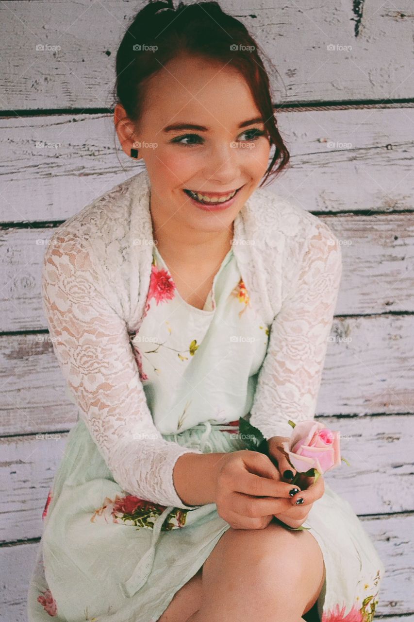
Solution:
<svg viewBox="0 0 414 622">
<path fill-rule="evenodd" d="M 211 423 L 209 421 L 205 421 L 199 425 L 203 425 L 206 428 L 205 432 L 203 432 L 200 438 L 200 450 L 203 452 L 206 445 L 209 445 L 211 452 L 213 452 L 213 447 L 208 442 L 209 435 L 211 434 L 211 430 L 213 429 L 211 427 Z M 232 431 L 232 430 L 237 429 L 235 425 L 226 425 L 226 424 L 219 424 L 219 425 L 213 424 L 213 425 L 214 425 L 214 428 L 219 429 L 219 430 Z M 198 425 L 195 425 L 194 427 L 198 427 Z M 155 519 L 154 526 L 152 527 L 151 544 L 150 544 L 149 549 L 147 550 L 147 552 L 145 552 L 143 557 L 141 557 L 141 559 L 139 560 L 138 564 L 132 571 L 131 577 L 129 577 L 129 579 L 125 583 L 120 584 L 122 593 L 127 598 L 131 598 L 131 596 L 134 596 L 134 594 L 136 594 L 138 590 L 142 588 L 144 583 L 147 582 L 147 579 L 152 570 L 152 566 L 154 565 L 155 547 L 160 537 L 161 527 L 163 526 L 165 519 L 167 519 L 168 514 L 170 514 L 170 512 L 172 512 L 173 509 L 174 509 L 173 506 L 168 506 L 168 508 L 165 508 L 163 513 L 160 514 L 157 517 L 157 519 Z"/>
</svg>

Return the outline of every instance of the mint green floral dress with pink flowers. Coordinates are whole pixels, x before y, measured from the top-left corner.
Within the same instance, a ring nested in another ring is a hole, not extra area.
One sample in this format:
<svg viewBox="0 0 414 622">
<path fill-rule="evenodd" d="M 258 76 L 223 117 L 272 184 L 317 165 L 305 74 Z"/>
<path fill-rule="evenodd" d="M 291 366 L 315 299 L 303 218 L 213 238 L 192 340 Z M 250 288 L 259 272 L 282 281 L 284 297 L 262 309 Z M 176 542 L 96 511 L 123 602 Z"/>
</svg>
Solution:
<svg viewBox="0 0 414 622">
<path fill-rule="evenodd" d="M 203 452 L 246 448 L 238 422 L 252 406 L 269 328 L 232 249 L 196 309 L 154 246 L 144 318 L 130 339 L 165 440 Z M 157 622 L 229 528 L 213 503 L 172 508 L 122 490 L 81 419 L 68 435 L 43 519 L 29 622 Z M 384 567 L 349 503 L 326 484 L 303 526 L 324 555 L 321 622 L 372 620 Z"/>
</svg>

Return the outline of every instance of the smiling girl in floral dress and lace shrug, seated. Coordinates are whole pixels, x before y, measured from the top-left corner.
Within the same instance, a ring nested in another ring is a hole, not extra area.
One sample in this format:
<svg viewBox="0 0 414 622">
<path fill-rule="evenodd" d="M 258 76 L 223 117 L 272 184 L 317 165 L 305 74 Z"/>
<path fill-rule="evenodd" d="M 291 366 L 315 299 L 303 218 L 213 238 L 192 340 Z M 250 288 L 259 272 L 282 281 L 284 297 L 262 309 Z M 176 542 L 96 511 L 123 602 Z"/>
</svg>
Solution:
<svg viewBox="0 0 414 622">
<path fill-rule="evenodd" d="M 374 545 L 323 476 L 289 483 L 278 448 L 289 419 L 315 415 L 341 250 L 262 188 L 289 154 L 257 44 L 217 2 L 152 2 L 116 73 L 117 137 L 143 168 L 58 227 L 44 259 L 78 422 L 29 621 L 370 621 Z M 247 450 L 240 417 L 269 456 Z"/>
</svg>

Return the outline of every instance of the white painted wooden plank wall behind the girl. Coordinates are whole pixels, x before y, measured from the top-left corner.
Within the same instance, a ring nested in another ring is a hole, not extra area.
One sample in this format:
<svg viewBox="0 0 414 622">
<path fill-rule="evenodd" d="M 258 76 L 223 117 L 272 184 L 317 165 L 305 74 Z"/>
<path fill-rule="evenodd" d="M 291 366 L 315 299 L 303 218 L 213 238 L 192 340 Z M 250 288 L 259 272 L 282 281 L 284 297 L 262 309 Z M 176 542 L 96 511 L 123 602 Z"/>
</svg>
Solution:
<svg viewBox="0 0 414 622">
<path fill-rule="evenodd" d="M 0 3 L 4 622 L 25 620 L 42 511 L 76 420 L 48 340 L 40 265 L 53 228 L 139 170 L 115 141 L 110 109 L 117 45 L 140 6 Z M 351 466 L 326 478 L 384 560 L 377 617 L 413 622 L 413 4 L 222 6 L 242 19 L 278 70 L 272 86 L 292 165 L 272 191 L 320 216 L 343 244 L 316 414 L 349 435 L 343 455 Z M 60 49 L 37 51 L 39 44 Z"/>
</svg>

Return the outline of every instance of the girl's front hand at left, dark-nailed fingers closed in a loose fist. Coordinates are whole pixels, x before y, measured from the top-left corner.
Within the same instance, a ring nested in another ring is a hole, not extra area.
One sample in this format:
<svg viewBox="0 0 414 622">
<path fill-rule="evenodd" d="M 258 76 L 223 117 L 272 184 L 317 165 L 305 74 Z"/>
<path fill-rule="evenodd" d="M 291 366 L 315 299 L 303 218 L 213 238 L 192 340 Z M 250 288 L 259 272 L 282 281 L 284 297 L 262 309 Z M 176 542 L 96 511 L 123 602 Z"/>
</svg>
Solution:
<svg viewBox="0 0 414 622">
<path fill-rule="evenodd" d="M 214 503 L 234 529 L 264 529 L 275 515 L 292 510 L 290 490 L 269 457 L 240 450 L 220 459 Z"/>
</svg>

